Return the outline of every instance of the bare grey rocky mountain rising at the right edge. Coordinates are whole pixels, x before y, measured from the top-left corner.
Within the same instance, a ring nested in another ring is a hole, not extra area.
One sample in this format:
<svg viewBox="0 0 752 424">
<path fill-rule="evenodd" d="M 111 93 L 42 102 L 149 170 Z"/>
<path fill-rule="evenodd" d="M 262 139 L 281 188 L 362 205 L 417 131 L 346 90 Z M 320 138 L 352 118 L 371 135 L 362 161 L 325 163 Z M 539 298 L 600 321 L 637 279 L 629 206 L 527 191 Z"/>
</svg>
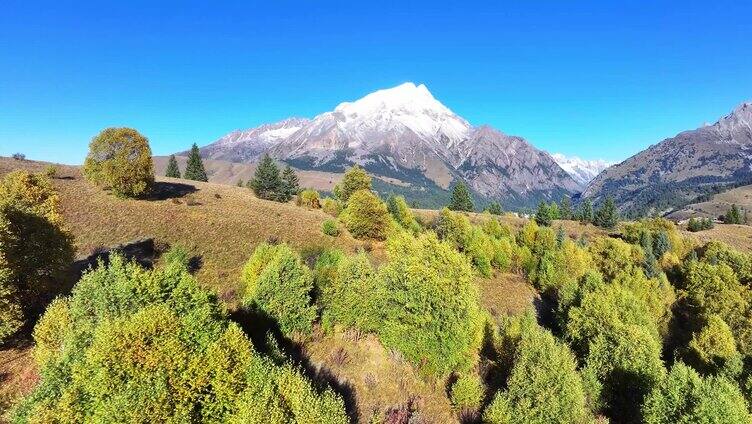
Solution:
<svg viewBox="0 0 752 424">
<path fill-rule="evenodd" d="M 583 193 L 623 212 L 666 212 L 719 186 L 752 181 L 752 103 L 713 125 L 668 138 L 598 175 Z"/>
</svg>

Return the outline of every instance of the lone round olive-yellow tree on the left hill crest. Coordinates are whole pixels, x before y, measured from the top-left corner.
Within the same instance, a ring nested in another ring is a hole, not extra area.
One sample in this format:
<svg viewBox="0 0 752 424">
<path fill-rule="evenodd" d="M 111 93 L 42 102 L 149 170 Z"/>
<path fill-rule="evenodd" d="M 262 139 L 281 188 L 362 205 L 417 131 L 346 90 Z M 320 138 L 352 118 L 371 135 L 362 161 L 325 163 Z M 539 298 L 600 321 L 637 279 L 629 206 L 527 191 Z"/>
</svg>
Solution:
<svg viewBox="0 0 752 424">
<path fill-rule="evenodd" d="M 91 140 L 83 173 L 117 196 L 141 196 L 154 183 L 149 140 L 131 128 L 106 128 Z"/>
</svg>

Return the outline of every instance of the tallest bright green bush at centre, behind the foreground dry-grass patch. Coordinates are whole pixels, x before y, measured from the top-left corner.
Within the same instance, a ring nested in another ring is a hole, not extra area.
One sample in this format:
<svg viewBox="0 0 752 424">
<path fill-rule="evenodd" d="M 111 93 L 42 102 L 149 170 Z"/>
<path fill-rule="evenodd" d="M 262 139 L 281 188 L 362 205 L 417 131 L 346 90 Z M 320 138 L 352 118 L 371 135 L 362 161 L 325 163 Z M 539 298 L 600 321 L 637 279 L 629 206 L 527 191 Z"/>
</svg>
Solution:
<svg viewBox="0 0 752 424">
<path fill-rule="evenodd" d="M 478 292 L 470 263 L 433 233 L 388 241 L 379 272 L 379 336 L 387 347 L 445 375 L 472 363 L 481 336 Z"/>
</svg>

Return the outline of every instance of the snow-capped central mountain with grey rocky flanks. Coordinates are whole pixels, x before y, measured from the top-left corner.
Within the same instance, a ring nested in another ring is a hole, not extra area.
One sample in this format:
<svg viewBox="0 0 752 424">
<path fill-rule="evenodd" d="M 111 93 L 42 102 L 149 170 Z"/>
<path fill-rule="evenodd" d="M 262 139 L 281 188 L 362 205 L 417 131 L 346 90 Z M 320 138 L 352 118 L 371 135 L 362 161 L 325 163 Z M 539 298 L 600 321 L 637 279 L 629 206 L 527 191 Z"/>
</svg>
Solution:
<svg viewBox="0 0 752 424">
<path fill-rule="evenodd" d="M 398 182 L 384 190 L 408 197 L 442 196 L 461 179 L 478 197 L 508 207 L 582 189 L 548 153 L 523 138 L 470 125 L 413 83 L 341 103 L 311 120 L 234 131 L 201 152 L 232 162 L 253 162 L 268 152 L 299 169 L 326 172 L 357 163 Z"/>
</svg>

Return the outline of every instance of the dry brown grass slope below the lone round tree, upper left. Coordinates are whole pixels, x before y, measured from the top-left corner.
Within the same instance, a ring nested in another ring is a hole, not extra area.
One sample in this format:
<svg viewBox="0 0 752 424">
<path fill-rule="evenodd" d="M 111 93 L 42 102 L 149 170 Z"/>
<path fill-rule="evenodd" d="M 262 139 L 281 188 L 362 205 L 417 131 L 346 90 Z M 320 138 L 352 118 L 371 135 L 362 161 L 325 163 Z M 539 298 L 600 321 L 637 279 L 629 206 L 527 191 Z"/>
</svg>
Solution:
<svg viewBox="0 0 752 424">
<path fill-rule="evenodd" d="M 41 172 L 46 165 L 0 158 L 0 175 L 19 167 Z M 270 238 L 302 252 L 329 247 L 354 252 L 368 245 L 372 255 L 383 254 L 381 244 L 357 241 L 347 232 L 324 235 L 321 224 L 331 217 L 321 210 L 261 200 L 246 188 L 157 177 L 157 199 L 118 199 L 69 166 L 59 167 L 54 184 L 79 255 L 140 237 L 182 244 L 202 260 L 198 279 L 225 299 L 234 297 L 254 248 Z"/>
</svg>

